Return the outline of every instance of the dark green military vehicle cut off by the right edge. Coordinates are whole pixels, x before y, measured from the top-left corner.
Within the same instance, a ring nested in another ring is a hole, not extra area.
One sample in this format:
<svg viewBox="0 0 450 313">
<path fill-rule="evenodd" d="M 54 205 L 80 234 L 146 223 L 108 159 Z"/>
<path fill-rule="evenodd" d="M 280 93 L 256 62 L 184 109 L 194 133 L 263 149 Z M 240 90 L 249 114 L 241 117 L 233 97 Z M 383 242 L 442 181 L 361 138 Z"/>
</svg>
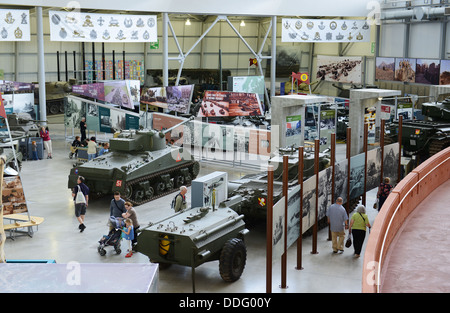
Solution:
<svg viewBox="0 0 450 313">
<path fill-rule="evenodd" d="M 421 161 L 450 146 L 450 98 L 442 102 L 422 103 L 427 120 L 403 120 L 402 146 L 407 156 Z M 398 121 L 386 126 L 385 143 L 396 142 Z"/>
</svg>

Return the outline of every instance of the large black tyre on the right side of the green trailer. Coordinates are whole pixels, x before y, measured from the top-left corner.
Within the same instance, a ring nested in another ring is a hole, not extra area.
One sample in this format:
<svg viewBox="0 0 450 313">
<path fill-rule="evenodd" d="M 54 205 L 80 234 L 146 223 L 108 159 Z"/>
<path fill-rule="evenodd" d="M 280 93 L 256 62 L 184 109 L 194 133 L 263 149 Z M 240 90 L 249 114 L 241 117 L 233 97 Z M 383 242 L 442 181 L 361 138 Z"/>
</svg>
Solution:
<svg viewBox="0 0 450 313">
<path fill-rule="evenodd" d="M 228 240 L 220 252 L 220 276 L 226 282 L 238 280 L 244 271 L 247 259 L 247 248 L 242 239 Z"/>
</svg>

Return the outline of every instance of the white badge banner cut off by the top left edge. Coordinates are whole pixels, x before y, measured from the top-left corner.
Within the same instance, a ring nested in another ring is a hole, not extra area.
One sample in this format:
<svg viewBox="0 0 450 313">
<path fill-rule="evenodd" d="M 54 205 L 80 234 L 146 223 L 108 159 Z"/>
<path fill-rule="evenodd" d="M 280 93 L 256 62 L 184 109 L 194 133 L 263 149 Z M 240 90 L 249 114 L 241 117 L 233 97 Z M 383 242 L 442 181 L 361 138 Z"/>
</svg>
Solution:
<svg viewBox="0 0 450 313">
<path fill-rule="evenodd" d="M 0 41 L 30 41 L 30 11 L 0 9 Z"/>
</svg>

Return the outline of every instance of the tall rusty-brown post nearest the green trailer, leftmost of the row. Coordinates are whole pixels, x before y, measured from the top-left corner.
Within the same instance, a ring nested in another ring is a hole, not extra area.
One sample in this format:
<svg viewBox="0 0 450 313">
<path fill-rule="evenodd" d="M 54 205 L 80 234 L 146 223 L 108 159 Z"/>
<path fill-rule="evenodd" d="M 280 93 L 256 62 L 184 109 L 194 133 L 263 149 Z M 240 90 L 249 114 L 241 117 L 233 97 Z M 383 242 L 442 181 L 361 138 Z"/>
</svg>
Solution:
<svg viewBox="0 0 450 313">
<path fill-rule="evenodd" d="M 266 293 L 272 293 L 273 165 L 267 171 Z"/>
</svg>

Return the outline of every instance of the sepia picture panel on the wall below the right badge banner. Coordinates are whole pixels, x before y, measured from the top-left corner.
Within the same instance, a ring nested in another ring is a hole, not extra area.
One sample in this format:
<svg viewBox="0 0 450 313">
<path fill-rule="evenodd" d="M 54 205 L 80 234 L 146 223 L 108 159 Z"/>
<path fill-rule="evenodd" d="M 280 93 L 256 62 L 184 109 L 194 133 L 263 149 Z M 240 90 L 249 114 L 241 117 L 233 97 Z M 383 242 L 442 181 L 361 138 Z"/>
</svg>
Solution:
<svg viewBox="0 0 450 313">
<path fill-rule="evenodd" d="M 317 56 L 316 78 L 320 80 L 361 84 L 362 57 Z"/>
</svg>

